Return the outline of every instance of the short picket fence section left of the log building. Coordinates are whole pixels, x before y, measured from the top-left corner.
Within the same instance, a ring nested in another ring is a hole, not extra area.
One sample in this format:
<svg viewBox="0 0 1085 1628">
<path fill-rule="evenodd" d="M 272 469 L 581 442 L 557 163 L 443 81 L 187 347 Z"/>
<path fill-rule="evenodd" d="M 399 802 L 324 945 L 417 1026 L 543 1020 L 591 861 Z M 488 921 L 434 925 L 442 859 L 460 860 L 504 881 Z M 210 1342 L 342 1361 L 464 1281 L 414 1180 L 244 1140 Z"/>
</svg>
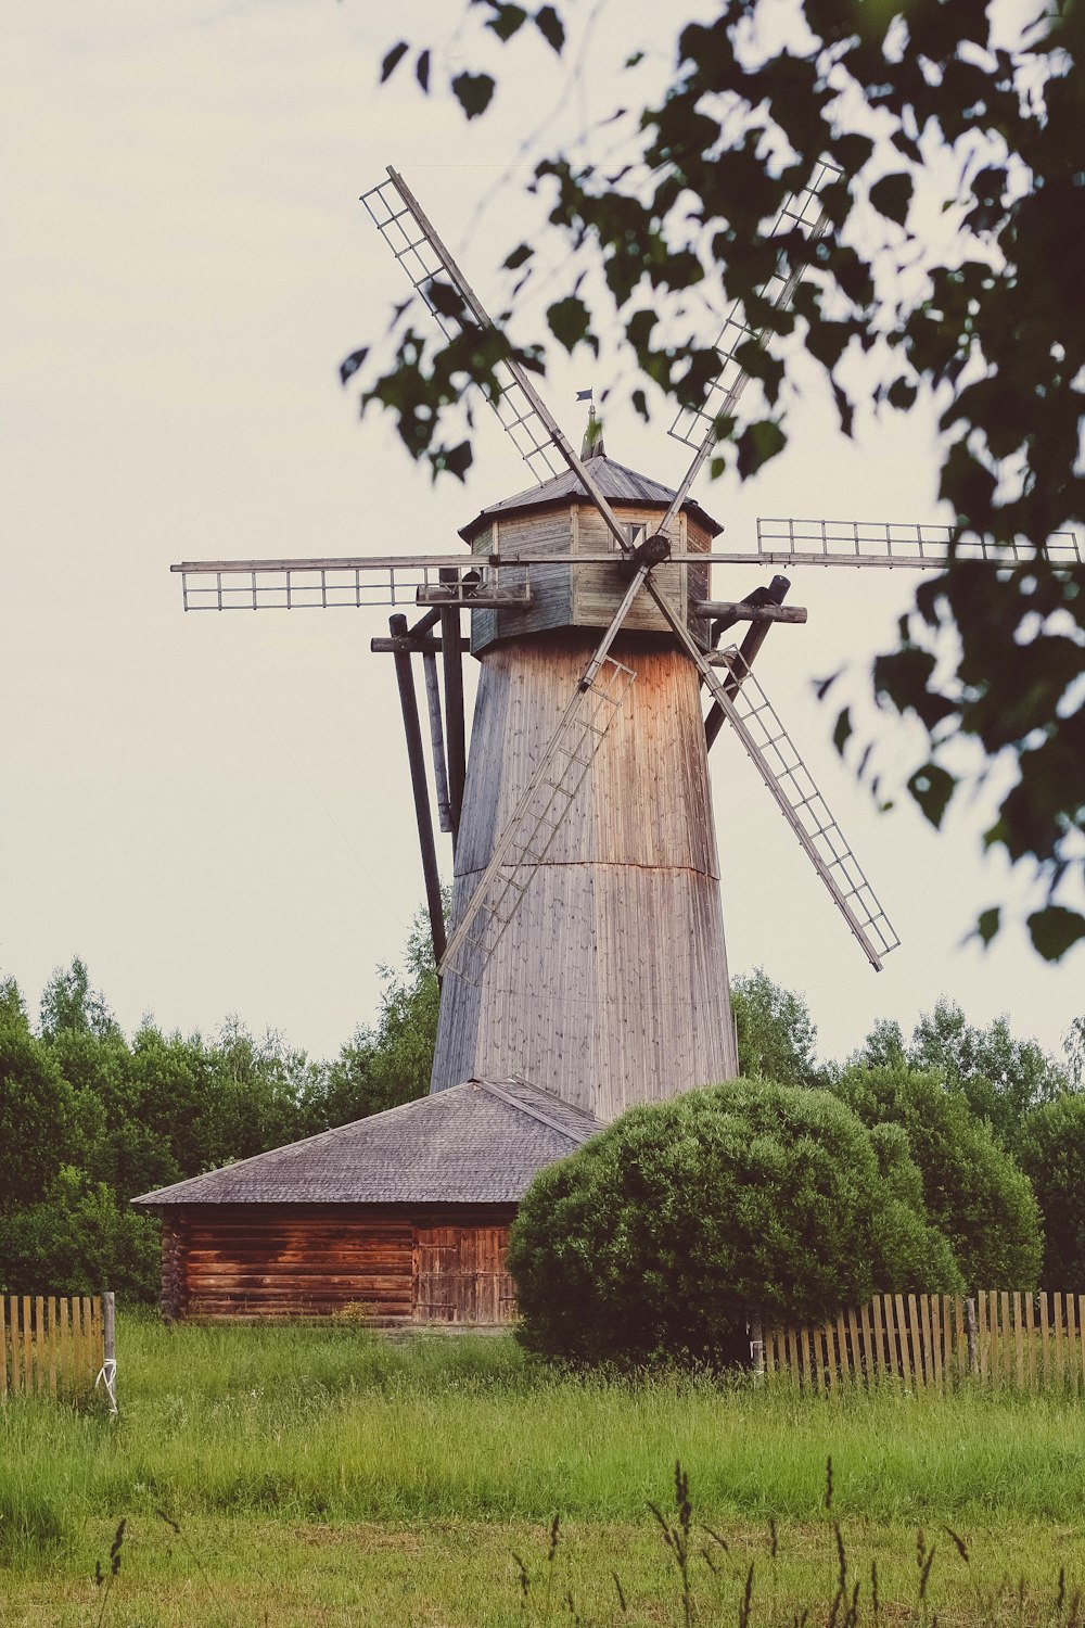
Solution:
<svg viewBox="0 0 1085 1628">
<path fill-rule="evenodd" d="M 0 1397 L 91 1389 L 112 1363 L 112 1294 L 0 1294 Z"/>
</svg>

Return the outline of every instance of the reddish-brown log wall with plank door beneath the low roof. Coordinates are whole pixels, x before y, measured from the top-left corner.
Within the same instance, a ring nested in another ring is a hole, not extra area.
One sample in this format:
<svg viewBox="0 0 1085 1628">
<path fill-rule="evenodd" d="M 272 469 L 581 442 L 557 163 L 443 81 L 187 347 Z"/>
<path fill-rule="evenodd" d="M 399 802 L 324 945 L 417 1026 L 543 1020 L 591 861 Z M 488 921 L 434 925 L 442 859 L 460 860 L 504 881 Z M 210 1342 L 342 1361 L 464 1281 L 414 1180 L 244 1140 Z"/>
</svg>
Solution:
<svg viewBox="0 0 1085 1628">
<path fill-rule="evenodd" d="M 509 1205 L 198 1205 L 163 1219 L 168 1319 L 509 1322 Z"/>
</svg>

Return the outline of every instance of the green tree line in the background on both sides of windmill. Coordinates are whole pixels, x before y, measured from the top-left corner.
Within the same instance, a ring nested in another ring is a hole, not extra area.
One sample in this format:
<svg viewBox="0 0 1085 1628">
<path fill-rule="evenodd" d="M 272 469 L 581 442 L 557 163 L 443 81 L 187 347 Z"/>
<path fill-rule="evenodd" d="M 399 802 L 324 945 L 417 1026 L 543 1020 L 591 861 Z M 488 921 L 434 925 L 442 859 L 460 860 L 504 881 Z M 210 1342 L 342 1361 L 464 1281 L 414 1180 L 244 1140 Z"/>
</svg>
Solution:
<svg viewBox="0 0 1085 1628">
<path fill-rule="evenodd" d="M 213 1037 L 145 1019 L 129 1039 L 78 957 L 36 1024 L 0 980 L 0 1293 L 153 1301 L 158 1223 L 130 1198 L 423 1096 L 438 980 L 421 917 L 381 974 L 376 1022 L 330 1061 L 237 1019 Z M 1057 1060 L 1005 1019 L 978 1029 L 940 1001 L 909 1042 L 883 1021 L 844 1063 L 820 1063 L 802 996 L 756 970 L 734 980 L 732 1004 L 742 1074 L 831 1091 L 882 1127 L 880 1179 L 921 1180 L 968 1281 L 1085 1289 L 1085 1017 Z"/>
</svg>

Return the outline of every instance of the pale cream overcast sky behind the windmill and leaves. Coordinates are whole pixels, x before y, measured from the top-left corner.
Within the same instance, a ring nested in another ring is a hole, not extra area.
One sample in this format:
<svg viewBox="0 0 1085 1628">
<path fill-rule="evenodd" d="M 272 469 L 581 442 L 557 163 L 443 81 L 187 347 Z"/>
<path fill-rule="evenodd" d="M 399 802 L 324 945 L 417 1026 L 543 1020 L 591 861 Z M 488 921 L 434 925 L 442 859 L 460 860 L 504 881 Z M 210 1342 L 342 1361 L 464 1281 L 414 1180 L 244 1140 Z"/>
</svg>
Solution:
<svg viewBox="0 0 1085 1628">
<path fill-rule="evenodd" d="M 465 487 L 433 488 L 390 425 L 358 422 L 338 363 L 407 291 L 358 195 L 402 169 L 486 298 L 530 231 L 522 135 L 555 104 L 555 137 L 605 111 L 618 18 L 618 60 L 657 42 L 665 62 L 667 36 L 659 7 L 612 0 L 569 94 L 540 41 L 509 59 L 493 117 L 465 127 L 407 75 L 376 90 L 382 49 L 399 31 L 421 41 L 442 10 L 5 7 L 0 969 L 31 1003 L 80 954 L 129 1031 L 153 1013 L 210 1034 L 236 1013 L 322 1057 L 374 1016 L 376 965 L 400 954 L 423 889 L 394 672 L 369 654 L 387 612 L 184 615 L 169 565 L 455 557 L 459 526 L 530 485 L 481 405 Z M 545 394 L 574 438 L 576 391 L 607 383 L 586 357 L 555 368 Z M 690 454 L 667 422 L 608 420 L 610 456 L 677 484 Z M 727 547 L 753 547 L 758 514 L 947 518 L 921 414 L 854 444 L 810 391 L 791 430 L 748 487 L 698 485 Z M 717 568 L 714 593 L 766 575 Z M 758 676 L 903 946 L 867 967 L 721 737 L 732 969 L 763 964 L 800 990 L 825 1055 L 882 1016 L 908 1031 L 942 993 L 1057 1050 L 1085 1004 L 1085 949 L 1048 967 L 1020 928 L 986 954 L 961 947 L 976 912 L 1007 897 L 1002 863 L 979 858 L 983 811 L 953 811 L 942 834 L 909 806 L 878 816 L 833 751 L 834 710 L 813 700 L 815 677 L 841 663 L 861 676 L 890 648 L 911 573 L 795 568 L 792 583 L 810 620 L 773 632 Z M 888 737 L 890 755 L 903 749 Z"/>
</svg>

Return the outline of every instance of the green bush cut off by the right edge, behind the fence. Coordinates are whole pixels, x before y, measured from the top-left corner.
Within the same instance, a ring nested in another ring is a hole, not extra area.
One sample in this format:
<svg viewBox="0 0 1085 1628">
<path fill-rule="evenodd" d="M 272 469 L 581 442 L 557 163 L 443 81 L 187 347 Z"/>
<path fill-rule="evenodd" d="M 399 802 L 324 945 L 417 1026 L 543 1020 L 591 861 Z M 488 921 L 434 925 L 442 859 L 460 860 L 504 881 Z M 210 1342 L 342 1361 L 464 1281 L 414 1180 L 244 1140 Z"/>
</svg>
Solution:
<svg viewBox="0 0 1085 1628">
<path fill-rule="evenodd" d="M 1085 1097 L 1065 1096 L 1033 1109 L 1015 1151 L 1043 1214 L 1043 1284 L 1083 1294 Z"/>
</svg>

